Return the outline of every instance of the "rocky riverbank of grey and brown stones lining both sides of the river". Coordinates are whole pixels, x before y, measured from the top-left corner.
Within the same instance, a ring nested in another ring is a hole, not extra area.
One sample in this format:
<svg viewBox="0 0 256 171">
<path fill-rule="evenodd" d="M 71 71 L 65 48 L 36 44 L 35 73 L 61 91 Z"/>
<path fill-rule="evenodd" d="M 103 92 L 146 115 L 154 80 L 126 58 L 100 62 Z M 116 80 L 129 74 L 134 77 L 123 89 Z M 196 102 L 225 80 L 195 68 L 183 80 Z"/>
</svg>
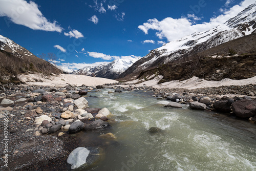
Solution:
<svg viewBox="0 0 256 171">
<path fill-rule="evenodd" d="M 195 90 L 157 90 L 129 84 L 123 88 L 123 84 L 96 87 L 0 85 L 0 161 L 8 164 L 8 167 L 1 165 L 1 170 L 71 169 L 67 159 L 79 141 L 72 136 L 74 133 L 100 130 L 103 136 L 97 143 L 90 142 L 94 147 L 101 141 L 104 143 L 105 137 L 115 139 L 108 130 L 111 127 L 110 111 L 89 108 L 86 100 L 88 92 L 104 88 L 113 90 L 109 93 L 152 91 L 155 98 L 165 101 L 166 108 L 179 108 L 180 103 L 186 103 L 191 109 L 250 118 L 252 123 L 256 120 L 256 86 L 253 84 Z M 4 144 L 5 139 L 7 144 Z"/>
</svg>

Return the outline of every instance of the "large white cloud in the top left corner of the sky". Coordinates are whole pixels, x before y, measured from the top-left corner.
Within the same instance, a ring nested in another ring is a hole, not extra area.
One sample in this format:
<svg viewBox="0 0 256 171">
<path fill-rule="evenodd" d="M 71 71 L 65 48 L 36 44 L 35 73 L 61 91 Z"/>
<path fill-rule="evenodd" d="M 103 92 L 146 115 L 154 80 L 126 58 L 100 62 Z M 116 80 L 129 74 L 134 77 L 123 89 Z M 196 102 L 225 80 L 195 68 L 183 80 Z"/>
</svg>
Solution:
<svg viewBox="0 0 256 171">
<path fill-rule="evenodd" d="M 33 30 L 57 31 L 63 28 L 57 22 L 49 22 L 38 9 L 38 5 L 25 0 L 1 0 L 0 16 L 7 16 L 13 23 L 26 26 Z"/>
</svg>

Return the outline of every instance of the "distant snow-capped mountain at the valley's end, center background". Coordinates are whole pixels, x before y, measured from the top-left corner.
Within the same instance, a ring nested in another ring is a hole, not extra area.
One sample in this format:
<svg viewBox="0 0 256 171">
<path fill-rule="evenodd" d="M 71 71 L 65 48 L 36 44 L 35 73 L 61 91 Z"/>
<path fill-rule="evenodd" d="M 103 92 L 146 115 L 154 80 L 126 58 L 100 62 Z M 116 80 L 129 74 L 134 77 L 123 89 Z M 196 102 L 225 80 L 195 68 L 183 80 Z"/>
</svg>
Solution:
<svg viewBox="0 0 256 171">
<path fill-rule="evenodd" d="M 134 62 L 139 60 L 138 56 L 122 56 L 120 59 L 116 59 L 108 64 L 101 64 L 98 66 L 87 66 L 78 71 L 74 71 L 71 74 L 89 75 L 95 77 L 103 77 L 116 79 L 127 68 L 131 67 Z"/>
</svg>

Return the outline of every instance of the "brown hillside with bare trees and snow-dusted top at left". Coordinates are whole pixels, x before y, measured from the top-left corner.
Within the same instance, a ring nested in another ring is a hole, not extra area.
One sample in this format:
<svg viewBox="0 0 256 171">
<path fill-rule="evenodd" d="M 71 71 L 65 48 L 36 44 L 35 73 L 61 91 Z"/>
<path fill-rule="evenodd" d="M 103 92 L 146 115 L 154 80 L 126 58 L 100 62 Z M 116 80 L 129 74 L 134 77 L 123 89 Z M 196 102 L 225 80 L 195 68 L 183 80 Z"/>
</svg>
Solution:
<svg viewBox="0 0 256 171">
<path fill-rule="evenodd" d="M 50 75 L 62 73 L 58 68 L 43 59 L 33 55 L 30 51 L 19 46 L 14 41 L 0 35 L 0 81 L 18 81 L 18 74 L 31 72 Z"/>
</svg>

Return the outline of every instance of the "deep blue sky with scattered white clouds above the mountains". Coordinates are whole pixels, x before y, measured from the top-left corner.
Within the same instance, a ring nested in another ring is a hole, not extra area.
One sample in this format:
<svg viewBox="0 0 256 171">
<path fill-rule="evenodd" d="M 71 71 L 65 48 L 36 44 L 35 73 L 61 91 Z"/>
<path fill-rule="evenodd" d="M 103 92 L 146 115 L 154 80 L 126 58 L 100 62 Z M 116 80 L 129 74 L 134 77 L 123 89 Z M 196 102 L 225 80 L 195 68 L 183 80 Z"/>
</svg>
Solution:
<svg viewBox="0 0 256 171">
<path fill-rule="evenodd" d="M 143 57 L 165 42 L 223 23 L 253 2 L 0 0 L 0 34 L 36 56 L 55 53 L 57 65 L 74 70 Z"/>
</svg>

